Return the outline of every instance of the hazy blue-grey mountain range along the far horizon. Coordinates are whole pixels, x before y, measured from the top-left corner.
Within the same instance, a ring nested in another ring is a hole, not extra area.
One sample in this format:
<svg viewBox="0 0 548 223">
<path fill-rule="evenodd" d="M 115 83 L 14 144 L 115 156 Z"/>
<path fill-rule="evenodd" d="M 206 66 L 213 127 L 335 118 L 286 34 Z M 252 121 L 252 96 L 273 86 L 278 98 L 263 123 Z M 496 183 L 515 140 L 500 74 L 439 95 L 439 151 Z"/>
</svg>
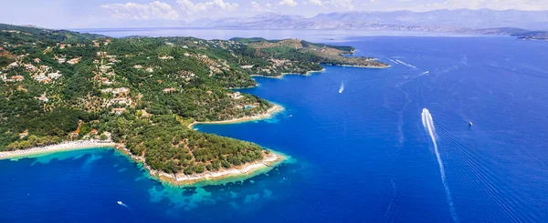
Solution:
<svg viewBox="0 0 548 223">
<path fill-rule="evenodd" d="M 548 29 L 548 11 L 443 9 L 330 13 L 311 18 L 265 14 L 203 22 L 200 26 L 219 29 L 373 29 L 512 35 Z"/>
</svg>

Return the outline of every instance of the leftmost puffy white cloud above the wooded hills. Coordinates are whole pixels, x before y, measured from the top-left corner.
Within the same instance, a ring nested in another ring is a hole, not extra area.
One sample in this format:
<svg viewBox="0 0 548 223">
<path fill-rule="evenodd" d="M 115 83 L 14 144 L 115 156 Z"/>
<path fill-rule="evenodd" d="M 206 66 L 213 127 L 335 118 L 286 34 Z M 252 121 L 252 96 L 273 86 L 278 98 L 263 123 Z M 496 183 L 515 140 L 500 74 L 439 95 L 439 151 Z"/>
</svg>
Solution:
<svg viewBox="0 0 548 223">
<path fill-rule="evenodd" d="M 179 18 L 179 14 L 174 8 L 166 3 L 154 1 L 149 4 L 105 4 L 100 5 L 109 11 L 111 16 L 117 19 L 135 19 L 135 20 L 150 20 L 150 19 L 168 19 L 174 20 Z"/>
</svg>

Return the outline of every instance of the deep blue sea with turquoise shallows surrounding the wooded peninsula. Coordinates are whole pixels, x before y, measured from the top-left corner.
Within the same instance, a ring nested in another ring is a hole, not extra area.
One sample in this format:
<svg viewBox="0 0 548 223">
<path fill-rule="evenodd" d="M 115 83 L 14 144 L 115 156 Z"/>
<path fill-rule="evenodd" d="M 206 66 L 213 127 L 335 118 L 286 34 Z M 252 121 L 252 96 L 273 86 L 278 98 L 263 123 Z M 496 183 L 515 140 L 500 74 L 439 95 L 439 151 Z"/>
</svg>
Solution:
<svg viewBox="0 0 548 223">
<path fill-rule="evenodd" d="M 336 44 L 392 67 L 258 78 L 241 91 L 283 113 L 196 126 L 292 163 L 182 189 L 111 149 L 0 160 L 0 222 L 548 221 L 548 43 L 345 36 Z"/>
</svg>

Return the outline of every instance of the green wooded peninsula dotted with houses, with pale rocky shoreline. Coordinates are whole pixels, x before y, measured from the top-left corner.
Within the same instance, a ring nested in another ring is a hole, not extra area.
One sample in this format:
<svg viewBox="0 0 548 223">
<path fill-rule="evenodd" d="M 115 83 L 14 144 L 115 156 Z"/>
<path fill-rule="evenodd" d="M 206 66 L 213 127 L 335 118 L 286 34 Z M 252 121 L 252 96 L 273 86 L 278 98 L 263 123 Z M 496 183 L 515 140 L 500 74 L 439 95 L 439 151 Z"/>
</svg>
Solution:
<svg viewBox="0 0 548 223">
<path fill-rule="evenodd" d="M 0 158 L 116 147 L 175 185 L 252 176 L 287 158 L 192 129 L 282 110 L 230 90 L 256 86 L 252 76 L 389 67 L 344 56 L 350 46 L 298 39 L 111 38 L 0 25 L 0 43 Z"/>
</svg>

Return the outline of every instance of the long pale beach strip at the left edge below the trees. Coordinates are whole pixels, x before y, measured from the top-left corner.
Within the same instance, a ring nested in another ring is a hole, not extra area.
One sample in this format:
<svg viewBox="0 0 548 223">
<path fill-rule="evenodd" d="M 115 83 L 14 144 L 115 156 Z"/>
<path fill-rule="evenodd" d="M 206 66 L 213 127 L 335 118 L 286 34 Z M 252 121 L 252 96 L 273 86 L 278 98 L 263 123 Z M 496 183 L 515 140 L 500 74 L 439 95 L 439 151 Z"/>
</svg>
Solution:
<svg viewBox="0 0 548 223">
<path fill-rule="evenodd" d="M 101 141 L 101 140 L 69 141 L 69 142 L 63 142 L 60 144 L 50 145 L 45 147 L 31 147 L 31 148 L 16 150 L 16 151 L 0 152 L 0 159 L 27 157 L 27 156 L 33 156 L 33 155 L 39 155 L 39 154 L 63 152 L 63 151 L 70 151 L 70 150 L 91 148 L 91 147 L 116 147 L 116 144 L 111 141 Z"/>
</svg>

